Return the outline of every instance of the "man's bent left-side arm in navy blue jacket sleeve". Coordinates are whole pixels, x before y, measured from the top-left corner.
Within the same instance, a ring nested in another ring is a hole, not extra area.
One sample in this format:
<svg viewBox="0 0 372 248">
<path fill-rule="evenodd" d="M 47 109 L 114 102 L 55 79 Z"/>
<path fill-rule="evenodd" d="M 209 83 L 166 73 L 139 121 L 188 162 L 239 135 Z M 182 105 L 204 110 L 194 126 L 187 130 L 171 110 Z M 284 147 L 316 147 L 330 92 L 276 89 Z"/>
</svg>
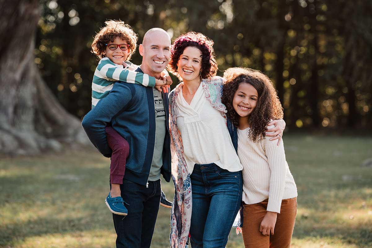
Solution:
<svg viewBox="0 0 372 248">
<path fill-rule="evenodd" d="M 120 112 L 132 99 L 132 91 L 126 83 L 115 83 L 105 98 L 84 116 L 81 125 L 93 145 L 105 157 L 111 157 L 112 150 L 106 139 L 107 123 Z"/>
</svg>

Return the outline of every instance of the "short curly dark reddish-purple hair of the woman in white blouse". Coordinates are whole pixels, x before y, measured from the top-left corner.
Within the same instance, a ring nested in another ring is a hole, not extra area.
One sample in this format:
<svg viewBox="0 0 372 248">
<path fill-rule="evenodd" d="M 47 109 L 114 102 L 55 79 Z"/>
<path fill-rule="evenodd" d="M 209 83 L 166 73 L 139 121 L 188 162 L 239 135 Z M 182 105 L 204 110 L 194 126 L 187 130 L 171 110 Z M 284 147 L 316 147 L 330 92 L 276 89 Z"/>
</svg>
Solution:
<svg viewBox="0 0 372 248">
<path fill-rule="evenodd" d="M 179 77 L 177 62 L 183 50 L 187 46 L 198 48 L 202 53 L 201 77 L 202 79 L 214 77 L 217 74 L 218 65 L 213 51 L 214 42 L 202 33 L 188 32 L 180 35 L 171 48 L 169 70 Z"/>
</svg>

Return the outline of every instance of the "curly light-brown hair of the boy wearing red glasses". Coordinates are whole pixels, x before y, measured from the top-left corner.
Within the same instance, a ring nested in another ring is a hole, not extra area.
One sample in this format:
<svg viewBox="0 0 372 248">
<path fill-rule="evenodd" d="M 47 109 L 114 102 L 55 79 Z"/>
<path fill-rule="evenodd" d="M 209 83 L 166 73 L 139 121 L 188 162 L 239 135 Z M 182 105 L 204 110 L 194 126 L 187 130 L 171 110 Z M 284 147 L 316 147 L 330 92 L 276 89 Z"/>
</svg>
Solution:
<svg viewBox="0 0 372 248">
<path fill-rule="evenodd" d="M 92 43 L 92 52 L 97 55 L 98 58 L 102 59 L 105 55 L 102 52 L 106 49 L 106 44 L 113 42 L 115 38 L 123 39 L 128 42 L 129 45 L 129 55 L 126 60 L 131 59 L 132 55 L 136 51 L 138 36 L 133 31 L 131 26 L 125 24 L 122 21 L 108 20 L 105 22 L 106 26 L 103 27 L 97 34 L 94 36 Z"/>
</svg>

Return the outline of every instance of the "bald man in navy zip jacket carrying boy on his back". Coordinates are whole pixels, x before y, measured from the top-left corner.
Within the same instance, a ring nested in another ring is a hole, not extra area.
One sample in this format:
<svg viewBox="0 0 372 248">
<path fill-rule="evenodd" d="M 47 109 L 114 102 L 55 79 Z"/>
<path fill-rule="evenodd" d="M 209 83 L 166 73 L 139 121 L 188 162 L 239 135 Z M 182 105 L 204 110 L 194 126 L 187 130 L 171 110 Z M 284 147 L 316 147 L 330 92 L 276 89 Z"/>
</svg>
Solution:
<svg viewBox="0 0 372 248">
<path fill-rule="evenodd" d="M 161 78 L 170 58 L 170 37 L 160 28 L 148 30 L 139 49 L 142 64 L 136 70 Z M 145 77 L 146 75 L 144 75 Z M 128 215 L 113 214 L 117 248 L 149 248 L 160 202 L 160 174 L 171 175 L 168 93 L 125 82 L 115 83 L 83 120 L 92 143 L 110 153 L 105 127 L 108 122 L 129 144 L 121 196 Z"/>
</svg>

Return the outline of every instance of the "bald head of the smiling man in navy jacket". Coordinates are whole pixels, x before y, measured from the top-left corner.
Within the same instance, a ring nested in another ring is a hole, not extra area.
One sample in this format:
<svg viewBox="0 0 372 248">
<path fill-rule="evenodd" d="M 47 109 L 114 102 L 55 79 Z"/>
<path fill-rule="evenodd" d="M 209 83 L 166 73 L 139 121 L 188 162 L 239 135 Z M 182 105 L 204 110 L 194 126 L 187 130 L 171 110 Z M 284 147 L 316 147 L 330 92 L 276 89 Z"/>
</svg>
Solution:
<svg viewBox="0 0 372 248">
<path fill-rule="evenodd" d="M 161 28 L 152 28 L 145 33 L 138 48 L 142 55 L 141 69 L 145 74 L 160 78 L 170 59 L 170 37 Z"/>
</svg>

